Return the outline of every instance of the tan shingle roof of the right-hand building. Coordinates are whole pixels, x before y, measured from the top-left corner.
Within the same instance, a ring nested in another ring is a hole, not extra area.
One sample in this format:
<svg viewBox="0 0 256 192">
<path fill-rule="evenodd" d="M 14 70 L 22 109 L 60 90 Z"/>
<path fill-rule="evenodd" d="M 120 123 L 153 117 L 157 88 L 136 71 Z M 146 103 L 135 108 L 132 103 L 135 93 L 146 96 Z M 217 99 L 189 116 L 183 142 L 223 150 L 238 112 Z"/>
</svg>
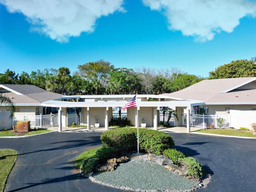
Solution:
<svg viewBox="0 0 256 192">
<path fill-rule="evenodd" d="M 183 90 L 164 95 L 203 102 L 256 102 L 255 81 L 255 77 L 203 80 Z M 251 84 L 251 90 L 239 90 L 239 86 L 246 84 Z M 225 92 L 227 90 L 229 92 Z"/>
</svg>

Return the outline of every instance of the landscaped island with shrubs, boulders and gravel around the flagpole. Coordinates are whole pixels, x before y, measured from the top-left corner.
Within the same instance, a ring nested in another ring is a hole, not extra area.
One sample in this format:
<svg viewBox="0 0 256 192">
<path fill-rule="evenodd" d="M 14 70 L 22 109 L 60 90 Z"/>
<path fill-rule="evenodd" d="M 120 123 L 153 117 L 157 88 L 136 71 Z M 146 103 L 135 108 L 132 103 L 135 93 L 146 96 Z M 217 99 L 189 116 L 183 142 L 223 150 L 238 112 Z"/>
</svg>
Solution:
<svg viewBox="0 0 256 192">
<path fill-rule="evenodd" d="M 76 159 L 76 168 L 94 182 L 125 190 L 194 190 L 206 174 L 197 160 L 175 150 L 174 140 L 164 132 L 139 128 L 140 154 L 136 128 L 115 128 L 100 140 L 102 147 Z"/>
</svg>

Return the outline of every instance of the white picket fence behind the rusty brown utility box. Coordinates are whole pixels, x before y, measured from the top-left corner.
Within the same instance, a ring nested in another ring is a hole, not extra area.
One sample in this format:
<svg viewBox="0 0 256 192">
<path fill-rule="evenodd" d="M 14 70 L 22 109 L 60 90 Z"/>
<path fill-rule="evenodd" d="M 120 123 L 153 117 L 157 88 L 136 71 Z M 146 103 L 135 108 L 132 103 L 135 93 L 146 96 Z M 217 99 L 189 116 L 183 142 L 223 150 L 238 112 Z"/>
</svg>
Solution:
<svg viewBox="0 0 256 192">
<path fill-rule="evenodd" d="M 17 125 L 18 121 L 30 121 L 31 128 L 42 128 L 58 125 L 58 114 L 48 114 L 48 115 L 16 115 L 12 118 L 13 125 Z"/>
</svg>

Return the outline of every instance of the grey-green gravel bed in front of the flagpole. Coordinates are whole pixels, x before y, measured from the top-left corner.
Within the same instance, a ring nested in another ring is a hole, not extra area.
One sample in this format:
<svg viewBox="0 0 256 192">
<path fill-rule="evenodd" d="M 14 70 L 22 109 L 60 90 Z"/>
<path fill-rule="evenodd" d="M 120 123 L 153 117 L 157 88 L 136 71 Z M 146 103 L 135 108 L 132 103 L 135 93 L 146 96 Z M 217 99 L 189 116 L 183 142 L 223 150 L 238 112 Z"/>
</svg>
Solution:
<svg viewBox="0 0 256 192">
<path fill-rule="evenodd" d="M 93 177 L 104 183 L 144 190 L 186 190 L 198 184 L 150 161 L 146 155 L 136 156 L 112 172 L 96 173 Z"/>
</svg>

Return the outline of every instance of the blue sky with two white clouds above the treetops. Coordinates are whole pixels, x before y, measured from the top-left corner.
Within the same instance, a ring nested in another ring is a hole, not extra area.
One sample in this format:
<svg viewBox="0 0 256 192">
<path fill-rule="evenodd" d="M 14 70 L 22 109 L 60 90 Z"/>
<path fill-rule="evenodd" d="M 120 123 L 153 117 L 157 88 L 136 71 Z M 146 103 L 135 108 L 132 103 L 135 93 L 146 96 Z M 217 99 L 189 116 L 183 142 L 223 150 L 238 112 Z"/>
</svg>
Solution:
<svg viewBox="0 0 256 192">
<path fill-rule="evenodd" d="M 255 50 L 256 0 L 0 0 L 0 73 L 103 59 L 208 77 Z"/>
</svg>

